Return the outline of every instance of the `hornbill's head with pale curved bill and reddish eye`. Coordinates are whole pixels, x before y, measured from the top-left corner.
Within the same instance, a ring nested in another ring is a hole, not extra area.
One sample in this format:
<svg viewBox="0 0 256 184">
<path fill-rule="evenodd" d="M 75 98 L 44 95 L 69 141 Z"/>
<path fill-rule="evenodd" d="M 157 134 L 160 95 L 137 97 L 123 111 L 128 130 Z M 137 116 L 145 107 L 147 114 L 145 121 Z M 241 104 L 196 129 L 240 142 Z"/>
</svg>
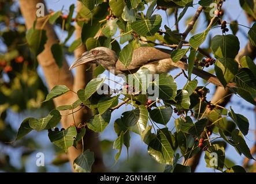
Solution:
<svg viewBox="0 0 256 184">
<path fill-rule="evenodd" d="M 118 56 L 112 49 L 106 47 L 97 47 L 90 51 L 84 52 L 69 68 L 75 68 L 81 64 L 98 63 L 107 70 L 112 70 L 116 67 Z"/>
</svg>

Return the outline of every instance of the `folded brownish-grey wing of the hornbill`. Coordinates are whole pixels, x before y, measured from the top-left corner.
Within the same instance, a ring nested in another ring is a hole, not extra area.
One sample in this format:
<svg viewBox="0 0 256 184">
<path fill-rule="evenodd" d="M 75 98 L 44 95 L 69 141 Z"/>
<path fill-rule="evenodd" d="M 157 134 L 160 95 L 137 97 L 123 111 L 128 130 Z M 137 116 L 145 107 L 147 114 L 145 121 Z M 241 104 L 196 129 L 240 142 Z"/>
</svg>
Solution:
<svg viewBox="0 0 256 184">
<path fill-rule="evenodd" d="M 118 59 L 116 63 L 117 70 L 120 71 L 135 71 L 142 67 L 144 64 L 155 62 L 162 59 L 170 58 L 170 50 L 155 47 L 139 47 L 133 51 L 132 62 L 128 67 Z"/>
</svg>

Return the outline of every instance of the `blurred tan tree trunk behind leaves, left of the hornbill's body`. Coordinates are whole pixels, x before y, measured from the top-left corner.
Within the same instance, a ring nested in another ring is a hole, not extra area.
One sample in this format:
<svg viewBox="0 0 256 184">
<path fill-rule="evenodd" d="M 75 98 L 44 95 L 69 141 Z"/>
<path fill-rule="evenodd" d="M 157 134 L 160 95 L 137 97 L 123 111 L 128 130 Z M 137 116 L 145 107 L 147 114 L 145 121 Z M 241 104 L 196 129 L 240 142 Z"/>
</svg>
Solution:
<svg viewBox="0 0 256 184">
<path fill-rule="evenodd" d="M 36 18 L 36 4 L 43 3 L 45 14 L 47 14 L 46 5 L 43 0 L 20 0 L 20 9 L 23 14 L 25 24 L 27 29 L 31 28 L 35 18 Z M 80 6 L 80 5 L 79 5 Z M 38 23 L 36 24 L 36 28 L 40 29 L 43 25 L 43 22 L 46 19 L 38 18 Z M 76 26 L 76 36 L 80 37 L 81 29 L 79 26 Z M 63 66 L 59 69 L 57 64 L 55 63 L 54 57 L 51 54 L 51 45 L 58 43 L 58 37 L 54 31 L 53 25 L 46 23 L 44 28 L 47 34 L 47 43 L 44 45 L 45 49 L 40 55 L 38 55 L 38 62 L 43 69 L 44 76 L 46 78 L 47 85 L 49 89 L 52 89 L 55 85 L 66 85 L 69 89 L 73 89 L 77 91 L 79 89 L 84 89 L 88 81 L 91 80 L 92 75 L 91 71 L 86 71 L 86 66 L 77 67 L 75 78 L 73 77 L 71 71 L 68 70 L 68 64 L 64 59 Z M 85 48 L 80 47 L 75 51 L 75 56 L 78 57 L 85 51 Z M 61 97 L 54 99 L 55 106 L 68 105 L 72 104 L 77 100 L 77 97 L 72 92 L 66 93 Z M 76 109 L 75 109 L 76 110 Z M 74 111 L 75 111 L 74 110 Z M 64 112 L 63 114 L 68 114 L 69 112 Z M 74 114 L 75 123 L 78 125 L 80 122 L 86 122 L 88 118 L 91 117 L 91 112 L 89 109 L 83 109 Z M 62 117 L 61 125 L 64 128 L 68 128 L 73 123 L 73 117 L 64 116 Z M 86 136 L 84 137 L 84 149 L 90 149 L 94 152 L 95 155 L 95 163 L 92 166 L 92 171 L 105 171 L 105 166 L 102 161 L 102 153 L 101 147 L 99 144 L 98 134 L 92 131 L 87 130 Z M 79 143 L 77 148 L 69 147 L 68 149 L 68 158 L 71 165 L 73 165 L 73 160 L 77 158 L 81 154 L 82 144 Z M 73 168 L 73 166 L 72 166 Z"/>
</svg>

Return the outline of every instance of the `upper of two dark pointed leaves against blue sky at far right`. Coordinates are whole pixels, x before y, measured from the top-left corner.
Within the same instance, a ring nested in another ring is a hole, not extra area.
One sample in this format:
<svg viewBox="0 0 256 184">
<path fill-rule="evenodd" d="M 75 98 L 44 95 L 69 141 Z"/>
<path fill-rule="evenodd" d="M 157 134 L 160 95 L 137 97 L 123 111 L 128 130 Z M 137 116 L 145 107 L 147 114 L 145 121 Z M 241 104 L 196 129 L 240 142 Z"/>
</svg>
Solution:
<svg viewBox="0 0 256 184">
<path fill-rule="evenodd" d="M 247 118 L 241 114 L 236 114 L 231 107 L 230 110 L 231 111 L 228 113 L 228 116 L 231 117 L 233 121 L 235 121 L 243 135 L 247 135 L 249 130 L 249 121 Z"/>
</svg>

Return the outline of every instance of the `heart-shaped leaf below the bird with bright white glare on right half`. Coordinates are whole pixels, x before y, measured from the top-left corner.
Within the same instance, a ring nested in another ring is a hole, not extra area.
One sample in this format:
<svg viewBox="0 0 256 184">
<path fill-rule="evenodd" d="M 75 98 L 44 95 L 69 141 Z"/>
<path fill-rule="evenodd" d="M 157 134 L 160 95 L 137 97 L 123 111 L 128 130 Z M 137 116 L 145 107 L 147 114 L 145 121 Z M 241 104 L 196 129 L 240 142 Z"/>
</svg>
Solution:
<svg viewBox="0 0 256 184">
<path fill-rule="evenodd" d="M 147 109 L 144 105 L 139 105 L 139 107 L 136 109 L 124 112 L 121 120 L 130 131 L 138 133 L 140 136 L 142 136 L 148 120 Z"/>
</svg>

